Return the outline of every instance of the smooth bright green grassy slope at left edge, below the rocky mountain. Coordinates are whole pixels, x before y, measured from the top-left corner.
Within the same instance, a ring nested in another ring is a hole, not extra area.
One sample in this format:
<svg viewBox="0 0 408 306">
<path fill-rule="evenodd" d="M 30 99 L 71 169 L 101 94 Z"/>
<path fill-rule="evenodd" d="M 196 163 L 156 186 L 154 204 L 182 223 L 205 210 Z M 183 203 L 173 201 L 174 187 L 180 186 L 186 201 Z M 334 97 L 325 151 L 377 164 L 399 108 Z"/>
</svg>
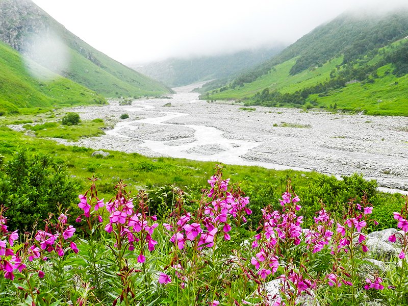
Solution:
<svg viewBox="0 0 408 306">
<path fill-rule="evenodd" d="M 51 73 L 37 66 L 37 70 Z M 104 104 L 105 98 L 71 80 L 56 75 L 52 81 L 38 81 L 27 70 L 21 55 L 0 42 L 0 113 L 18 108 Z"/>
</svg>

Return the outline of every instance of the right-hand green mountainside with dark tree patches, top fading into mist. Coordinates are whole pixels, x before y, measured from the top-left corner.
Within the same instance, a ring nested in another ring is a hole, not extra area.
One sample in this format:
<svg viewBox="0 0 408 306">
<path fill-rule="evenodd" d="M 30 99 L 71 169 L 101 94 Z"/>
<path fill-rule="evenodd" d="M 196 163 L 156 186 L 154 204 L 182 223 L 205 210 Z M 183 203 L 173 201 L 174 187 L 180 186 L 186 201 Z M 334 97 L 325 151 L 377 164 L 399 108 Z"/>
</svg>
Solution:
<svg viewBox="0 0 408 306">
<path fill-rule="evenodd" d="M 408 116 L 408 11 L 344 13 L 207 99 Z"/>
</svg>

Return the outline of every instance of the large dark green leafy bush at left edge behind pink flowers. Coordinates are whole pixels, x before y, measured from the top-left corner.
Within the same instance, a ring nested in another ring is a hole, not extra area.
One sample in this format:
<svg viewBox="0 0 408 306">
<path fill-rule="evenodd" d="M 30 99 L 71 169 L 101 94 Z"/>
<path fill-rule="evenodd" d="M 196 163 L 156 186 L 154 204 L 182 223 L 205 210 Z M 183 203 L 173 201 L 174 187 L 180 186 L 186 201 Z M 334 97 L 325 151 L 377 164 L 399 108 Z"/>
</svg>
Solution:
<svg viewBox="0 0 408 306">
<path fill-rule="evenodd" d="M 58 213 L 76 202 L 78 182 L 65 166 L 51 157 L 19 149 L 12 160 L 0 165 L 0 205 L 7 208 L 9 228 L 31 230 L 48 213 Z"/>
</svg>

